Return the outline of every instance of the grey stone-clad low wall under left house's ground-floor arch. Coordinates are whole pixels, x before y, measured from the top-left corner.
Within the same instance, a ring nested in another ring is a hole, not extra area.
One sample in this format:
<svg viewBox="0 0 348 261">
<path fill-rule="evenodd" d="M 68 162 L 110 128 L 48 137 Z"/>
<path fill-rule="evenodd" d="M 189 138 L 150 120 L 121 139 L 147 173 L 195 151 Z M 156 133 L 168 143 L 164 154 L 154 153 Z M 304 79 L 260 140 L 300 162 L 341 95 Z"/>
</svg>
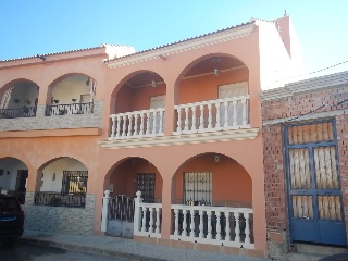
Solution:
<svg viewBox="0 0 348 261">
<path fill-rule="evenodd" d="M 34 192 L 26 192 L 24 229 L 92 235 L 95 201 L 95 195 L 87 194 L 84 209 L 35 206 Z"/>
</svg>

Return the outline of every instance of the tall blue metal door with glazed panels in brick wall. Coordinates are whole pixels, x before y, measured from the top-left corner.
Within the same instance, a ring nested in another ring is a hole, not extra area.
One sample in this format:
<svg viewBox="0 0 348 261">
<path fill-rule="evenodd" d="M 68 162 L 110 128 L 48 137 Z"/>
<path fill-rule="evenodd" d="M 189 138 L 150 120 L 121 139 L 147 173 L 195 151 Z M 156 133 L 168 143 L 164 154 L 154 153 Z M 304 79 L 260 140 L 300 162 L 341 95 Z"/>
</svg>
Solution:
<svg viewBox="0 0 348 261">
<path fill-rule="evenodd" d="M 334 121 L 285 127 L 291 241 L 347 245 Z"/>
</svg>

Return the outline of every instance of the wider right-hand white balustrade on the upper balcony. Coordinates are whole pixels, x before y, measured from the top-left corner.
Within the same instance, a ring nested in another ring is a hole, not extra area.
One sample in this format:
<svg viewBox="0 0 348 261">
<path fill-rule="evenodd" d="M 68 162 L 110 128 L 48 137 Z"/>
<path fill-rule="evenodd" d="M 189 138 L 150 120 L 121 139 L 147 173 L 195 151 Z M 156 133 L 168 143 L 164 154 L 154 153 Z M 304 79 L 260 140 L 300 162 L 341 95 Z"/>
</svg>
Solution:
<svg viewBox="0 0 348 261">
<path fill-rule="evenodd" d="M 175 135 L 248 128 L 249 96 L 175 105 Z"/>
</svg>

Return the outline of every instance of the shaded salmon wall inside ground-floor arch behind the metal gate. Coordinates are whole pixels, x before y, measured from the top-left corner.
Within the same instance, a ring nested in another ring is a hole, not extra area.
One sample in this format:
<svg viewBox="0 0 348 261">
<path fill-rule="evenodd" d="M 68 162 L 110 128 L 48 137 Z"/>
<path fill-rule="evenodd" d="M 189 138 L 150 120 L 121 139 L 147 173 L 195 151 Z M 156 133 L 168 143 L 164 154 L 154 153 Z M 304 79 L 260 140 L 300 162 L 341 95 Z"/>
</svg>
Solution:
<svg viewBox="0 0 348 261">
<path fill-rule="evenodd" d="M 127 195 L 128 197 L 136 197 L 136 174 L 151 174 L 154 173 L 154 198 L 162 198 L 162 177 L 156 166 L 146 160 L 135 158 L 121 163 L 110 176 L 110 183 L 114 184 L 114 192 L 112 196 L 119 194 Z"/>
</svg>

